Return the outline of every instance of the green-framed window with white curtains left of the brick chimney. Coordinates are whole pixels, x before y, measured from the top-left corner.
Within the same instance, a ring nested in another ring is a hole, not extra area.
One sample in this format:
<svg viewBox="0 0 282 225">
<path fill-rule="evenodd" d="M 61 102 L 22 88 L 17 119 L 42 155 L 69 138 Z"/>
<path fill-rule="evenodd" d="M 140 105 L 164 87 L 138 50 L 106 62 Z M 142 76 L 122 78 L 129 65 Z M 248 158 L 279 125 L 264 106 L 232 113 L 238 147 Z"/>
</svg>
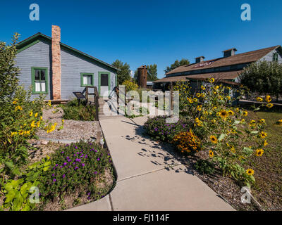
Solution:
<svg viewBox="0 0 282 225">
<path fill-rule="evenodd" d="M 48 68 L 32 68 L 32 94 L 48 94 Z"/>
</svg>

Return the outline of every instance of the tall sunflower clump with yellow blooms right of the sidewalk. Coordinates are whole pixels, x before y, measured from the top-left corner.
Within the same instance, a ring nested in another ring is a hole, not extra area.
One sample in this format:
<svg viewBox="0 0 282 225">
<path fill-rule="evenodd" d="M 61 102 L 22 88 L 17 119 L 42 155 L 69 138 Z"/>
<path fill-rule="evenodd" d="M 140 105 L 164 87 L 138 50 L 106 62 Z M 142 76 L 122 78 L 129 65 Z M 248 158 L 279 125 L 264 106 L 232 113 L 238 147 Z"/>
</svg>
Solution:
<svg viewBox="0 0 282 225">
<path fill-rule="evenodd" d="M 244 164 L 251 155 L 261 157 L 264 153 L 263 148 L 268 144 L 267 134 L 263 130 L 264 119 L 246 122 L 247 111 L 232 106 L 235 98 L 230 93 L 243 94 L 242 86 L 232 89 L 214 84 L 212 78 L 201 89 L 202 93 L 195 96 L 197 101 L 190 103 L 188 100 L 187 104 L 195 107 L 197 102 L 199 114 L 194 118 L 194 127 L 204 129 L 202 148 L 209 151 L 209 158 L 222 169 L 223 176 L 231 176 L 240 184 L 251 186 L 255 182 L 255 172 L 251 168 L 246 170 Z M 271 108 L 270 101 L 270 97 L 266 96 L 267 103 L 262 106 Z"/>
</svg>

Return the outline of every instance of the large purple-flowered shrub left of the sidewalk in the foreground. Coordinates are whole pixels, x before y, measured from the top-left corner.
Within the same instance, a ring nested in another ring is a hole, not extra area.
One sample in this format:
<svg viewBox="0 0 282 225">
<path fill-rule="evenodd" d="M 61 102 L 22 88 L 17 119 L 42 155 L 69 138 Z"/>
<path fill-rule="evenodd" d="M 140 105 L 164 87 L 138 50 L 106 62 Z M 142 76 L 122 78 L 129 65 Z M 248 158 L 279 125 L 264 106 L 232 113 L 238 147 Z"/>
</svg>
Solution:
<svg viewBox="0 0 282 225">
<path fill-rule="evenodd" d="M 96 143 L 72 143 L 51 155 L 51 167 L 40 179 L 39 190 L 44 200 L 53 200 L 75 191 L 84 192 L 90 198 L 100 198 L 105 190 L 95 185 L 111 168 L 111 157 Z"/>
</svg>

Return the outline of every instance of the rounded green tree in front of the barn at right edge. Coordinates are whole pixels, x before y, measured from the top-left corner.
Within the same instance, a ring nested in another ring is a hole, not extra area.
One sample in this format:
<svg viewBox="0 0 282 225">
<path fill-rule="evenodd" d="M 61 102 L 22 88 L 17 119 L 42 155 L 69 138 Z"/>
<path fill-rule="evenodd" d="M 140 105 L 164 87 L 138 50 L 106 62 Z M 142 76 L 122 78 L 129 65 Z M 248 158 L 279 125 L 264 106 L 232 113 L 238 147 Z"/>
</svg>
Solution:
<svg viewBox="0 0 282 225">
<path fill-rule="evenodd" d="M 282 94 L 282 64 L 260 60 L 244 68 L 239 77 L 241 84 L 259 94 Z"/>
</svg>

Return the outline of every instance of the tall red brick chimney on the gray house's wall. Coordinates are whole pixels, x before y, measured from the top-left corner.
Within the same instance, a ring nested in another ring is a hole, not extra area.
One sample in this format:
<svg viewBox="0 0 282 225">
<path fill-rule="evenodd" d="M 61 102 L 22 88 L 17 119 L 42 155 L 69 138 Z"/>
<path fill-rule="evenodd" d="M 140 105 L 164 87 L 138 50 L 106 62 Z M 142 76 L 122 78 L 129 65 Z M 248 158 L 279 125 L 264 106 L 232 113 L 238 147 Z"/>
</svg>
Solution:
<svg viewBox="0 0 282 225">
<path fill-rule="evenodd" d="M 53 99 L 61 99 L 61 28 L 52 25 L 52 84 Z"/>
</svg>

